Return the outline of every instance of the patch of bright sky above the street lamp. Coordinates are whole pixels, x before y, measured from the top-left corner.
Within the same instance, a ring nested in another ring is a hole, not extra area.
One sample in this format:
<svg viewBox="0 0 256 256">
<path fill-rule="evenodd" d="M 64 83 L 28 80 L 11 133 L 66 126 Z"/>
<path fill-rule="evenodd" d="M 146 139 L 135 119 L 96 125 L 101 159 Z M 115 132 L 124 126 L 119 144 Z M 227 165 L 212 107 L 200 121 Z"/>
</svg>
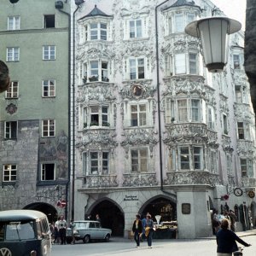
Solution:
<svg viewBox="0 0 256 256">
<path fill-rule="evenodd" d="M 242 30 L 245 30 L 245 17 L 247 0 L 211 0 L 224 14 L 229 18 L 238 20 L 242 24 Z"/>
</svg>

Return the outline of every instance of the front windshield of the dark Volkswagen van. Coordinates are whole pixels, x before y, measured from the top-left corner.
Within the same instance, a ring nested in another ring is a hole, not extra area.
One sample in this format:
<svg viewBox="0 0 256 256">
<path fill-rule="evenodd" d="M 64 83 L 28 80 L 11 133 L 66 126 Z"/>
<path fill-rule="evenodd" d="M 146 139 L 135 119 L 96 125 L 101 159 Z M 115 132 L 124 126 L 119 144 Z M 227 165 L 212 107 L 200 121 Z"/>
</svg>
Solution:
<svg viewBox="0 0 256 256">
<path fill-rule="evenodd" d="M 6 241 L 34 239 L 36 236 L 33 227 L 32 220 L 0 223 L 0 241 L 4 240 L 4 236 Z"/>
</svg>

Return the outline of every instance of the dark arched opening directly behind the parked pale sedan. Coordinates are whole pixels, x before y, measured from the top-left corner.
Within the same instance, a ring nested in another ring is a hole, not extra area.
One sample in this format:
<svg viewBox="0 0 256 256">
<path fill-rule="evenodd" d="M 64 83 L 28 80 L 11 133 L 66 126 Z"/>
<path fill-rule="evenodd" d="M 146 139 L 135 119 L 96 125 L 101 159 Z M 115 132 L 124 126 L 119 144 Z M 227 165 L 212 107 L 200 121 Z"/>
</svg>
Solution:
<svg viewBox="0 0 256 256">
<path fill-rule="evenodd" d="M 102 201 L 88 212 L 91 219 L 96 219 L 96 214 L 100 215 L 103 228 L 111 229 L 112 236 L 124 236 L 125 218 L 124 213 L 120 211 L 112 201 Z"/>
</svg>

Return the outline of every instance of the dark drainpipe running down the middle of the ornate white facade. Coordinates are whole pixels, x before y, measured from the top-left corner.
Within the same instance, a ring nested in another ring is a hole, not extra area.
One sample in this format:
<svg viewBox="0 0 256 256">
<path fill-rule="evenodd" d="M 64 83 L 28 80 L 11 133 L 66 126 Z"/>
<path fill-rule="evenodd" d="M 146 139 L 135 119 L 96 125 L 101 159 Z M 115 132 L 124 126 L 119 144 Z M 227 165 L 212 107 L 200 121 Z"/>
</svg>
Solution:
<svg viewBox="0 0 256 256">
<path fill-rule="evenodd" d="M 159 147 L 160 147 L 160 189 L 166 195 L 172 195 L 172 193 L 165 191 L 163 188 L 163 160 L 162 160 L 162 137 L 161 137 L 161 120 L 160 120 L 160 79 L 159 79 L 159 51 L 158 51 L 158 22 L 157 22 L 157 9 L 168 2 L 169 0 L 164 1 L 157 5 L 154 9 L 154 18 L 155 18 L 155 48 L 156 48 L 156 79 L 157 79 L 157 108 L 158 108 L 158 134 L 159 134 Z M 172 195 L 173 196 L 173 195 Z"/>
</svg>

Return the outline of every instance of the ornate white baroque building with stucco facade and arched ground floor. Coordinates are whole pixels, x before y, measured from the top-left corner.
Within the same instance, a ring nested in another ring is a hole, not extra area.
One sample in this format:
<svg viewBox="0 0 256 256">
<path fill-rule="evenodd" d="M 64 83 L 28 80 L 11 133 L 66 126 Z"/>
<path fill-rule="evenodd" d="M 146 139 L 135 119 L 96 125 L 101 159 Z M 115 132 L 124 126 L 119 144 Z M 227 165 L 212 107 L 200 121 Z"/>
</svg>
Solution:
<svg viewBox="0 0 256 256">
<path fill-rule="evenodd" d="M 224 73 L 208 73 L 199 41 L 184 33 L 213 7 L 205 0 L 73 3 L 75 219 L 99 213 L 103 226 L 127 236 L 135 214 L 150 212 L 177 220 L 178 237 L 195 238 L 211 236 L 212 210 L 229 207 L 237 229 L 255 225 L 243 32 L 230 36 Z"/>
</svg>

